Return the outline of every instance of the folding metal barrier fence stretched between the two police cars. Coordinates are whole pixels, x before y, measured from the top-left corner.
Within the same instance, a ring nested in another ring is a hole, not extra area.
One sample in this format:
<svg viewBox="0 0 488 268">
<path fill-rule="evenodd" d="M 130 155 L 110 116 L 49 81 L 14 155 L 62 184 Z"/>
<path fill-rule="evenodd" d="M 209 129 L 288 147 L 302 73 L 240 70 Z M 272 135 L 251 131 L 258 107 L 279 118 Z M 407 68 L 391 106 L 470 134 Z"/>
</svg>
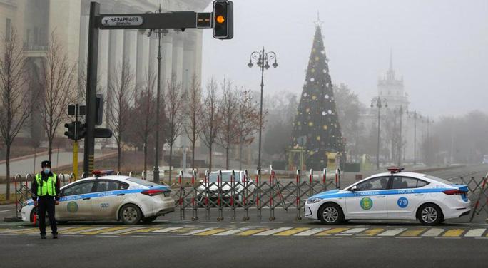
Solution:
<svg viewBox="0 0 488 268">
<path fill-rule="evenodd" d="M 249 220 L 250 209 L 256 210 L 256 217 L 263 218 L 263 210 L 269 210 L 269 220 L 275 220 L 275 210 L 294 210 L 296 219 L 301 220 L 305 200 L 318 192 L 337 188 L 340 184 L 340 172 L 335 180 L 327 181 L 326 170 L 319 180 L 310 170 L 308 176 L 303 176 L 297 170 L 295 180 L 280 180 L 274 170 L 268 175 L 256 172 L 254 176 L 245 170 L 244 176 L 235 176 L 223 180 L 219 171 L 216 179 L 210 180 L 209 172 L 205 178 L 197 181 L 193 171 L 190 182 L 183 182 L 183 172 L 178 175 L 177 182 L 171 185 L 175 205 L 180 211 L 181 220 L 185 219 L 187 210 L 192 212 L 192 220 L 198 220 L 198 209 L 205 210 L 205 219 L 210 219 L 210 210 L 218 210 L 217 220 L 223 220 L 223 210 L 231 210 L 231 218 L 237 218 L 237 210 L 243 212 L 242 220 Z"/>
</svg>

